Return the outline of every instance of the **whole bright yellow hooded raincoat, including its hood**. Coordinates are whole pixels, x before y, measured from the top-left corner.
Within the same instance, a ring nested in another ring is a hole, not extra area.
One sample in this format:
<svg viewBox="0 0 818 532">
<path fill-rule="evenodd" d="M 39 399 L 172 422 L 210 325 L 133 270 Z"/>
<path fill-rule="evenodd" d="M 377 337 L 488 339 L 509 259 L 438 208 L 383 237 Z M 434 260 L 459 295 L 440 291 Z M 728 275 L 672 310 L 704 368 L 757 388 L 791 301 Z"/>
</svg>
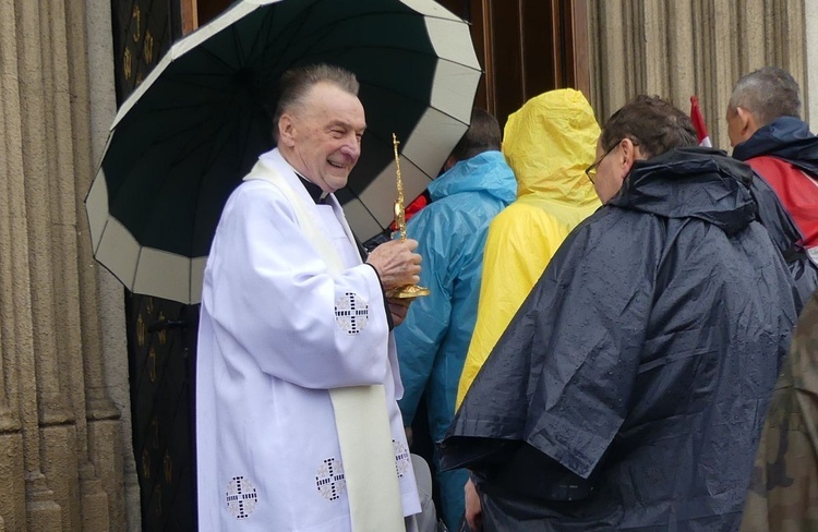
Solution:
<svg viewBox="0 0 818 532">
<path fill-rule="evenodd" d="M 569 88 L 541 94 L 508 117 L 503 153 L 517 178 L 517 201 L 489 229 L 458 408 L 565 237 L 601 205 L 585 174 L 599 134 L 591 106 Z"/>
</svg>

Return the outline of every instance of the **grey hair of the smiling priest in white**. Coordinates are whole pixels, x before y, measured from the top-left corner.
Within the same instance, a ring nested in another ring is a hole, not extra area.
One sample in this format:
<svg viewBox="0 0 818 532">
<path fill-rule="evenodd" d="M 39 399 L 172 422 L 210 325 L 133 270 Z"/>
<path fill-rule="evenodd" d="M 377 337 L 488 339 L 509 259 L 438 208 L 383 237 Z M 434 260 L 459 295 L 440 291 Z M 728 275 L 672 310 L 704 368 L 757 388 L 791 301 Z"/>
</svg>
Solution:
<svg viewBox="0 0 818 532">
<path fill-rule="evenodd" d="M 288 70 L 281 75 L 278 102 L 273 116 L 273 134 L 276 141 L 278 141 L 278 121 L 281 114 L 303 105 L 306 94 L 318 83 L 330 83 L 352 96 L 358 96 L 360 88 L 353 73 L 334 64 L 317 63 Z"/>
</svg>

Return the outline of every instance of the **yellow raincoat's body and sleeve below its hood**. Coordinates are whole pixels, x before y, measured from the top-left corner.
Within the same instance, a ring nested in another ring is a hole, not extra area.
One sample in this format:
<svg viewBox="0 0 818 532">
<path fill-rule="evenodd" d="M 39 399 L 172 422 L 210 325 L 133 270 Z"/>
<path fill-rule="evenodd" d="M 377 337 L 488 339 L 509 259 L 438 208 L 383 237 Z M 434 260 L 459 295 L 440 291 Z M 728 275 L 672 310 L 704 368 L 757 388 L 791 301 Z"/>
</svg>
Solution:
<svg viewBox="0 0 818 532">
<path fill-rule="evenodd" d="M 458 408 L 494 344 L 568 232 L 542 209 L 519 203 L 492 221 L 483 252 L 477 324 L 457 390 Z"/>
</svg>

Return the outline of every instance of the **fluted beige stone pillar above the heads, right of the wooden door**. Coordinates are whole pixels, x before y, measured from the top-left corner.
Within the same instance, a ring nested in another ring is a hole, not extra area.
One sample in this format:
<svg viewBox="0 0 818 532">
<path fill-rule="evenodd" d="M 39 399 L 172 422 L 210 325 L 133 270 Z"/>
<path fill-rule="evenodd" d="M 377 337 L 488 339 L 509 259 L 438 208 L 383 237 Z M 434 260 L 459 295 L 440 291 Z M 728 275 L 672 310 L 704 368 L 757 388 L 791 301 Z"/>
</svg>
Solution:
<svg viewBox="0 0 818 532">
<path fill-rule="evenodd" d="M 738 77 L 773 65 L 805 86 L 804 0 L 588 0 L 588 28 L 600 122 L 637 94 L 684 111 L 696 95 L 714 146 L 729 148 L 724 114 Z"/>
</svg>

